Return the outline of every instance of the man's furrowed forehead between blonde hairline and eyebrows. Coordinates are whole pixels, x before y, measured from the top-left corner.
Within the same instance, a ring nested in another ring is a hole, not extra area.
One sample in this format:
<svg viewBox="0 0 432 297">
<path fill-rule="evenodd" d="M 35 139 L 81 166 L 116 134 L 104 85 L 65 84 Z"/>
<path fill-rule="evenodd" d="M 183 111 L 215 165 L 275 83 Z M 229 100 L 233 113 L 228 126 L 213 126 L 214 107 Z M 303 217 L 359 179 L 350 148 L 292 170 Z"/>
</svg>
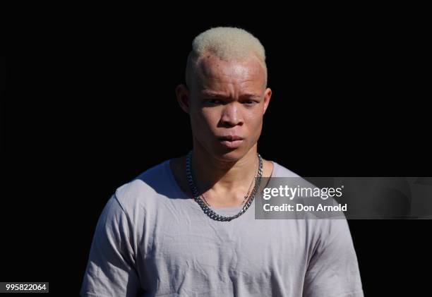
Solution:
<svg viewBox="0 0 432 297">
<path fill-rule="evenodd" d="M 221 87 L 261 89 L 265 82 L 265 72 L 254 55 L 241 61 L 224 61 L 217 56 L 206 55 L 196 66 L 196 82 L 201 90 Z"/>
</svg>

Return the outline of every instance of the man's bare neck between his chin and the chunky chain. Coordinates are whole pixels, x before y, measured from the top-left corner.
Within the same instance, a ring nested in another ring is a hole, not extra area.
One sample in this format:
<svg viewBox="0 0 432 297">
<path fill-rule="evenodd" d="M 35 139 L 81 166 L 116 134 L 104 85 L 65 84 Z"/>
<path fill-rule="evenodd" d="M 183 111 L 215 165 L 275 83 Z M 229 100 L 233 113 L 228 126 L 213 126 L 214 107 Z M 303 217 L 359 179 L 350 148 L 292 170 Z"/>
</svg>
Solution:
<svg viewBox="0 0 432 297">
<path fill-rule="evenodd" d="M 196 186 L 203 193 L 244 192 L 258 168 L 257 145 L 235 161 L 211 156 L 203 147 L 194 145 L 191 166 Z"/>
</svg>

